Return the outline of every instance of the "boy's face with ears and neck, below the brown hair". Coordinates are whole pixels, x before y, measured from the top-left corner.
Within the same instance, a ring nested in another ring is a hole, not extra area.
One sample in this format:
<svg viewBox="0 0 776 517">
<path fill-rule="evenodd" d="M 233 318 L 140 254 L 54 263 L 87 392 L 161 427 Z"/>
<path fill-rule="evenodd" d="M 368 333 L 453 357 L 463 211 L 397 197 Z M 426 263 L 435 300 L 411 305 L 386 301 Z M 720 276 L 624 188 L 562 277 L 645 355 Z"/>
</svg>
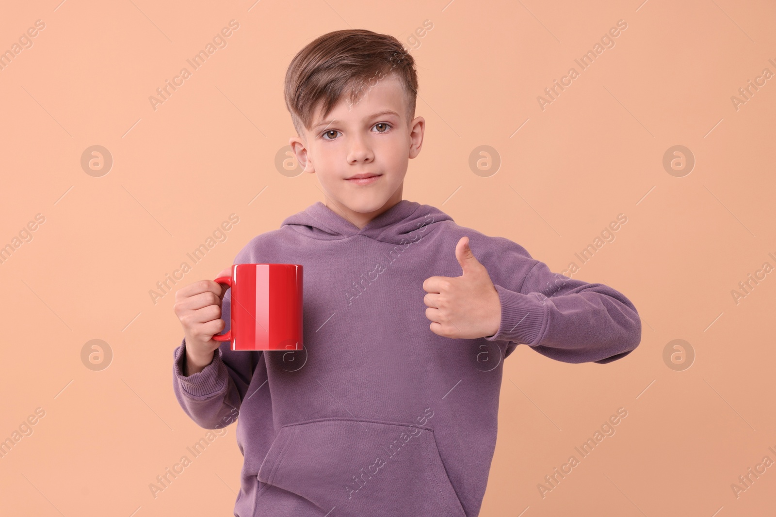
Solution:
<svg viewBox="0 0 776 517">
<path fill-rule="evenodd" d="M 289 140 L 304 171 L 317 174 L 326 206 L 359 229 L 401 201 L 407 161 L 421 151 L 425 121 L 407 120 L 406 102 L 399 80 L 388 76 L 352 105 L 342 98 L 325 120 L 319 106 L 311 129 Z M 357 174 L 377 178 L 348 179 Z"/>
</svg>

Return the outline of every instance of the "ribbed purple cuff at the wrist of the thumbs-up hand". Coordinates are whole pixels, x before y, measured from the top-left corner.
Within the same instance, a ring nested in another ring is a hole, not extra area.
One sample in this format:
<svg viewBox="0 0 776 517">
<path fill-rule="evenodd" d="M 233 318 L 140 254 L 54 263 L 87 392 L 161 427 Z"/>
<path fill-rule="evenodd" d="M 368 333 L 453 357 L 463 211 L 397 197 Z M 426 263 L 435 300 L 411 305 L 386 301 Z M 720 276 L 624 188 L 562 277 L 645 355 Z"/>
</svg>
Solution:
<svg viewBox="0 0 776 517">
<path fill-rule="evenodd" d="M 549 308 L 534 295 L 510 291 L 495 285 L 501 302 L 501 326 L 488 341 L 514 341 L 535 345 L 546 325 Z"/>
</svg>

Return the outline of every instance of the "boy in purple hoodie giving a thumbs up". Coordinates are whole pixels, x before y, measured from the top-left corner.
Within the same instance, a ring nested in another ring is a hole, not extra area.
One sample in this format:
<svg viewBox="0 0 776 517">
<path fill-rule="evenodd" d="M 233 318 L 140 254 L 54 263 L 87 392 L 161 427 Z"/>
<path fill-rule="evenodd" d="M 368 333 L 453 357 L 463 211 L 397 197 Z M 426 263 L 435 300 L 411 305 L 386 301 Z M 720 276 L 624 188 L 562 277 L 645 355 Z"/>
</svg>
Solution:
<svg viewBox="0 0 776 517">
<path fill-rule="evenodd" d="M 566 363 L 619 359 L 641 339 L 636 308 L 402 199 L 425 122 L 413 57 L 392 36 L 320 36 L 293 58 L 285 95 L 289 143 L 326 202 L 234 263 L 303 264 L 304 350 L 230 350 L 212 339 L 229 326 L 227 286 L 190 284 L 175 295 L 178 402 L 206 429 L 239 415 L 239 517 L 478 515 L 503 358 L 526 343 Z"/>
</svg>

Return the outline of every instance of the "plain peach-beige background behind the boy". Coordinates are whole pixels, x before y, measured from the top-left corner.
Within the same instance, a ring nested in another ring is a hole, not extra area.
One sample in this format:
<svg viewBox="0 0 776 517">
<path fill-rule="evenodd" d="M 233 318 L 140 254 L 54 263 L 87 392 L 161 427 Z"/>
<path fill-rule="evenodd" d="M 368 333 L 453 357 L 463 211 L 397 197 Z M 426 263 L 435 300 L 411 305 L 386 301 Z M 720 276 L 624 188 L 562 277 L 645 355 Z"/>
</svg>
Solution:
<svg viewBox="0 0 776 517">
<path fill-rule="evenodd" d="M 174 295 L 154 305 L 148 291 L 230 213 L 240 222 L 183 284 L 323 200 L 314 176 L 275 168 L 293 134 L 282 80 L 306 43 L 348 27 L 397 36 L 417 59 L 428 126 L 404 198 L 553 271 L 628 218 L 574 276 L 628 296 L 642 342 L 608 365 L 518 347 L 480 515 L 774 511 L 776 467 L 738 498 L 731 489 L 776 461 L 776 274 L 737 305 L 731 295 L 776 266 L 776 78 L 737 110 L 731 100 L 776 73 L 772 2 L 59 2 L 6 2 L 0 16 L 0 50 L 46 25 L 0 71 L 0 246 L 45 217 L 0 264 L 0 439 L 45 411 L 0 459 L 4 515 L 231 515 L 234 426 L 158 497 L 148 488 L 206 434 L 172 391 Z M 227 47 L 154 111 L 149 96 L 230 19 Z M 615 47 L 540 109 L 620 19 Z M 409 39 L 424 20 L 433 28 Z M 102 177 L 81 168 L 93 145 L 113 156 Z M 501 157 L 487 178 L 468 165 L 480 145 Z M 674 145 L 696 160 L 681 178 L 662 164 Z M 90 339 L 113 351 L 102 371 L 81 361 Z M 673 339 L 695 351 L 684 371 L 663 360 Z M 618 408 L 615 435 L 542 498 L 537 484 Z"/>
</svg>

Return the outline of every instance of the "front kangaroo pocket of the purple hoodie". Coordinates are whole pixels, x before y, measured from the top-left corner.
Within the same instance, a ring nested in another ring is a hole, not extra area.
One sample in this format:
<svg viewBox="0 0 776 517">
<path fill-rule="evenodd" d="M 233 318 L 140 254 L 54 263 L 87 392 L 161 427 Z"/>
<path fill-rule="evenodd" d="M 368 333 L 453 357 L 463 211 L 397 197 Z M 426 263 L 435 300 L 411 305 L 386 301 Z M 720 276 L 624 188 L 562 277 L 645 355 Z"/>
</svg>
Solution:
<svg viewBox="0 0 776 517">
<path fill-rule="evenodd" d="M 465 517 L 434 431 L 400 422 L 320 419 L 282 426 L 258 480 L 324 512 Z"/>
</svg>

